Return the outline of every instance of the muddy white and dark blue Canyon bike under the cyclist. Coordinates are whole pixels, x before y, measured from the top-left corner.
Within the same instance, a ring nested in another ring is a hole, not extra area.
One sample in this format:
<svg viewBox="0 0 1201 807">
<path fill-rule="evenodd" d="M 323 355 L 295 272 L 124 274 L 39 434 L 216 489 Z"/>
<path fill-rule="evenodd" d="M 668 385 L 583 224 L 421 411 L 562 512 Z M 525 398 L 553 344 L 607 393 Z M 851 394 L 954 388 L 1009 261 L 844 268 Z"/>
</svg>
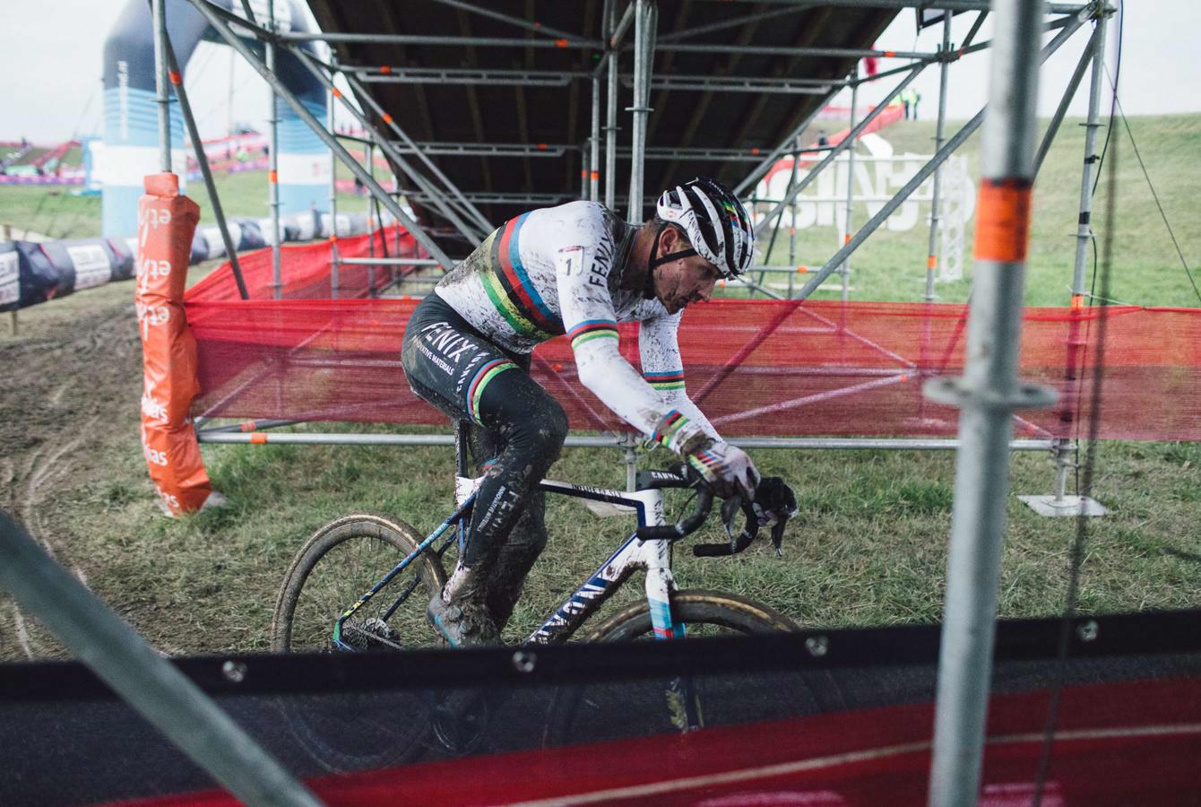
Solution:
<svg viewBox="0 0 1201 807">
<path fill-rule="evenodd" d="M 462 434 L 462 430 L 460 430 Z M 425 609 L 442 591 L 447 575 L 443 556 L 456 545 L 471 521 L 476 479 L 466 477 L 462 440 L 458 441 L 456 509 L 434 532 L 422 536 L 404 521 L 378 515 L 348 515 L 318 530 L 300 550 L 280 590 L 273 622 L 271 648 L 277 652 L 369 652 L 435 647 L 440 636 Z M 683 468 L 641 471 L 637 490 L 623 492 L 563 482 L 543 480 L 548 494 L 604 502 L 629 508 L 638 527 L 590 578 L 573 591 L 525 639 L 537 646 L 566 641 L 632 641 L 680 639 L 721 634 L 796 630 L 778 611 L 737 594 L 681 590 L 671 573 L 673 544 L 698 530 L 709 515 L 712 495 Z M 695 507 L 677 524 L 664 520 L 665 489 L 697 488 Z M 733 555 L 746 549 L 754 528 L 729 543 L 697 545 L 698 556 Z M 635 572 L 645 575 L 645 599 L 635 602 L 598 624 L 581 627 Z M 667 705 L 664 705 L 664 695 Z M 619 693 L 620 698 L 621 694 Z M 610 709 L 597 688 L 574 687 L 560 693 L 550 710 L 545 737 L 572 739 L 573 727 L 594 722 Z M 293 710 L 289 722 L 316 758 L 330 770 L 354 770 L 405 759 L 430 731 L 444 751 L 461 753 L 484 729 L 488 704 L 474 699 L 431 698 L 430 719 L 395 719 L 388 709 L 368 704 L 353 713 L 312 705 L 306 713 Z M 703 725 L 704 693 L 688 679 L 667 682 L 655 706 L 665 730 Z M 339 725 L 339 722 L 345 723 Z M 382 735 L 365 743 L 366 735 Z M 345 742 L 341 746 L 337 737 Z M 370 751 L 364 751 L 371 746 Z"/>
</svg>

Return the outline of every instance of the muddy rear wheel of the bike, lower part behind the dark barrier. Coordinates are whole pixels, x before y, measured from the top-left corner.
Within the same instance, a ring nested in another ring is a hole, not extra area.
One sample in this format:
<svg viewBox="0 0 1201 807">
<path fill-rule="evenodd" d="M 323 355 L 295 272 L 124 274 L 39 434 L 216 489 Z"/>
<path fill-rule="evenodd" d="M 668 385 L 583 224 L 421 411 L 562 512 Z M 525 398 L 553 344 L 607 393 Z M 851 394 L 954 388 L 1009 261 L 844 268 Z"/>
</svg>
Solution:
<svg viewBox="0 0 1201 807">
<path fill-rule="evenodd" d="M 376 515 L 351 515 L 318 530 L 280 588 L 271 650 L 334 651 L 339 616 L 422 540 L 407 524 Z M 343 642 L 359 651 L 383 652 L 435 646 L 438 640 L 425 621 L 425 606 L 443 585 L 446 573 L 438 557 L 423 552 L 343 623 Z M 335 773 L 408 759 L 430 729 L 425 693 L 287 695 L 279 704 L 297 741 L 318 765 Z"/>
</svg>

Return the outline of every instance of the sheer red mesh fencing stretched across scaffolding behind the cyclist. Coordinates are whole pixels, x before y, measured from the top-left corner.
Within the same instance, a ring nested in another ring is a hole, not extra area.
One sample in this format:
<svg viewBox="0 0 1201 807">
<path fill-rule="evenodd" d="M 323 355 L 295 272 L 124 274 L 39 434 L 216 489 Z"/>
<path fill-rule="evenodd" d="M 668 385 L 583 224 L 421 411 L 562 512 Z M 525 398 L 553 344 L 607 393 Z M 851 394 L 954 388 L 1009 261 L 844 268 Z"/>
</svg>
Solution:
<svg viewBox="0 0 1201 807">
<path fill-rule="evenodd" d="M 328 255 L 324 245 L 291 250 L 322 263 Z M 265 259 L 269 276 L 269 252 Z M 244 259 L 244 270 L 262 273 L 262 261 Z M 328 288 L 327 267 L 305 280 L 292 261 L 289 289 L 316 297 L 321 271 Z M 195 414 L 446 423 L 410 391 L 401 370 L 401 336 L 416 300 L 240 301 L 219 294 L 219 282 L 187 297 L 203 390 Z M 1104 313 L 1101 436 L 1201 440 L 1201 310 Z M 1082 434 L 1099 373 L 1100 316 L 1095 307 L 1026 311 L 1022 378 L 1057 388 L 1062 404 L 1018 413 L 1016 436 Z M 966 324 L 962 305 L 715 300 L 689 309 L 680 343 L 689 395 L 723 434 L 949 436 L 956 410 L 926 401 L 921 383 L 962 371 Z M 621 345 L 637 366 L 637 325 L 621 327 Z M 564 339 L 534 352 L 533 372 L 573 428 L 626 429 L 579 383 Z"/>
</svg>

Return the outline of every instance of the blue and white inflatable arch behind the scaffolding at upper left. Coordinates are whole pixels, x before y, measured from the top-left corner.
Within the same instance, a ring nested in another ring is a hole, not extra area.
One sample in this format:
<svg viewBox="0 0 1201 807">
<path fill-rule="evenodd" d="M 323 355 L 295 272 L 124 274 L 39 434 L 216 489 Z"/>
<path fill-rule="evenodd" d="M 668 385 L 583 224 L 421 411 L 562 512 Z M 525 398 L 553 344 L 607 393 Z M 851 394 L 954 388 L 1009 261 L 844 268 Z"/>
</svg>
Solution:
<svg viewBox="0 0 1201 807">
<path fill-rule="evenodd" d="M 241 16 L 240 0 L 216 0 Z M 216 40 L 208 23 L 186 0 L 166 0 L 167 35 L 175 58 L 186 72 L 196 46 L 203 38 Z M 267 24 L 267 0 L 251 0 L 256 20 Z M 283 31 L 309 31 L 298 0 L 276 0 L 276 25 Z M 251 41 L 261 50 L 262 46 Z M 312 46 L 306 46 L 310 52 Z M 325 90 L 295 56 L 279 53 L 276 73 L 316 115 L 325 119 Z M 184 120 L 172 98 L 171 137 L 175 173 L 186 180 Z M 292 108 L 276 98 L 280 143 L 280 215 L 324 211 L 329 197 L 329 150 L 297 118 Z M 203 126 L 203 121 L 197 121 Z M 104 41 L 104 137 L 96 171 L 103 181 L 103 232 L 106 237 L 137 233 L 137 202 L 142 178 L 159 171 L 159 110 L 155 101 L 154 26 L 150 4 L 129 0 L 116 25 Z M 264 199 L 267 186 L 263 187 Z M 264 205 L 265 207 L 265 205 Z"/>
</svg>

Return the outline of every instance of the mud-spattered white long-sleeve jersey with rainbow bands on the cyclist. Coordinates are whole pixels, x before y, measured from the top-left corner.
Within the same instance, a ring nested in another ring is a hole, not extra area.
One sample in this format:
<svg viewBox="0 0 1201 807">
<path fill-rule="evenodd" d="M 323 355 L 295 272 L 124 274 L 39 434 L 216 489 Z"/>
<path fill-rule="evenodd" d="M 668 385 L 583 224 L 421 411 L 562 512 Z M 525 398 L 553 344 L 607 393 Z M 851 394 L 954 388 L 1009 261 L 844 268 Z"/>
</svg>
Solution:
<svg viewBox="0 0 1201 807">
<path fill-rule="evenodd" d="M 566 334 L 580 382 L 647 437 L 670 446 L 685 419 L 717 438 L 685 391 L 682 311 L 622 288 L 635 232 L 594 202 L 532 210 L 492 232 L 434 291 L 508 351 L 530 353 Z M 641 373 L 617 349 L 619 322 L 640 323 Z"/>
</svg>

